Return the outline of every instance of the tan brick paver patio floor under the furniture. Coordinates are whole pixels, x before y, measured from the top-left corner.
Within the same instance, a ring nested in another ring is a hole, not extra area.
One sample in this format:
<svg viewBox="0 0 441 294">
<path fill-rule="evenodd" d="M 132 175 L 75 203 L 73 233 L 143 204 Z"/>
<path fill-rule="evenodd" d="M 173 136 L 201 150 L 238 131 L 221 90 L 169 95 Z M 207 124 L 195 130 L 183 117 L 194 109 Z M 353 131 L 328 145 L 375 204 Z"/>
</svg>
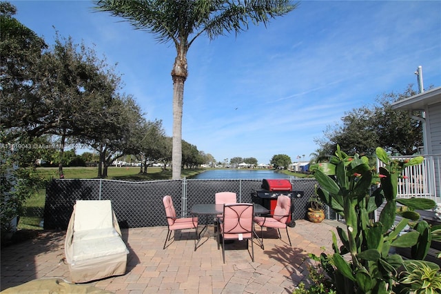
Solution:
<svg viewBox="0 0 441 294">
<path fill-rule="evenodd" d="M 125 229 L 123 239 L 130 250 L 125 275 L 88 284 L 113 293 L 291 293 L 300 281 L 307 281 L 307 253 L 318 255 L 321 247 L 331 251 L 331 231 L 337 225 L 343 226 L 330 220 L 298 220 L 289 228 L 292 246 L 285 230 L 281 240 L 276 231 L 264 230 L 265 250 L 255 241 L 254 262 L 251 246 L 247 251 L 245 242 L 234 242 L 225 246 L 225 264 L 212 228 L 196 252 L 194 231 L 176 234 L 176 241 L 163 250 L 167 227 Z M 52 277 L 69 282 L 64 237 L 65 231 L 42 231 L 35 239 L 2 248 L 1 291 Z"/>
</svg>

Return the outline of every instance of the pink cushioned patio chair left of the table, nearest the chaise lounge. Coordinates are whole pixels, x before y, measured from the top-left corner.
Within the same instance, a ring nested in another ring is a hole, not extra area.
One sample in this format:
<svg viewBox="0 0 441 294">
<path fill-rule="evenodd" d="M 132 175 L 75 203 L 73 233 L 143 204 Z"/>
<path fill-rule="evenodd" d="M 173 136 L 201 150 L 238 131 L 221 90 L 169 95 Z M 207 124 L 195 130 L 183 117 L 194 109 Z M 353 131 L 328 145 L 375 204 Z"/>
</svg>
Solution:
<svg viewBox="0 0 441 294">
<path fill-rule="evenodd" d="M 170 241 L 170 238 L 172 237 L 172 231 L 194 228 L 196 230 L 196 238 L 194 239 L 194 251 L 196 251 L 196 240 L 198 240 L 198 217 L 176 217 L 176 210 L 174 210 L 172 197 L 169 195 L 163 197 L 163 204 L 168 226 L 167 237 L 165 238 L 163 249 L 165 249 L 167 241 Z"/>
</svg>

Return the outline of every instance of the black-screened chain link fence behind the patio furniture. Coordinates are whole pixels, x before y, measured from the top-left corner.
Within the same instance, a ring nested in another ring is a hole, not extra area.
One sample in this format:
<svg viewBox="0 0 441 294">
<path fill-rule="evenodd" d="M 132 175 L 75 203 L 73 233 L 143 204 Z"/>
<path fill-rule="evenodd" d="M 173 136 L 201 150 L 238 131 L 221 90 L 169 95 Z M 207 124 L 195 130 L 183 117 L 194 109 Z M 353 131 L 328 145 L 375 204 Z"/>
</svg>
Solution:
<svg viewBox="0 0 441 294">
<path fill-rule="evenodd" d="M 293 198 L 293 219 L 305 219 L 308 199 L 314 195 L 316 179 L 291 179 L 293 190 L 304 196 Z M 127 182 L 110 179 L 54 179 L 46 188 L 44 228 L 68 227 L 77 199 L 110 199 L 121 228 L 167 226 L 162 199 L 172 196 L 176 213 L 188 216 L 194 204 L 214 203 L 214 194 L 230 191 L 238 202 L 252 202 L 252 193 L 262 190 L 258 179 L 179 179 Z M 329 218 L 329 211 L 327 213 Z"/>
</svg>

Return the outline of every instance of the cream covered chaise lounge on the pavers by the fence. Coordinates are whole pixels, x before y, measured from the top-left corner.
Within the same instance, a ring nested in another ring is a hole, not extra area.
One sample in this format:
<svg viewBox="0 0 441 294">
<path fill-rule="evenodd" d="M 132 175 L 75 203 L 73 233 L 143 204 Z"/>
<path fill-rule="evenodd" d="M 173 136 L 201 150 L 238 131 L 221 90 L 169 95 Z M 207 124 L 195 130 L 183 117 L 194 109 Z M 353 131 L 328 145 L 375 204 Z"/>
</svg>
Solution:
<svg viewBox="0 0 441 294">
<path fill-rule="evenodd" d="M 76 200 L 64 250 L 74 283 L 125 273 L 129 251 L 110 200 Z"/>
</svg>

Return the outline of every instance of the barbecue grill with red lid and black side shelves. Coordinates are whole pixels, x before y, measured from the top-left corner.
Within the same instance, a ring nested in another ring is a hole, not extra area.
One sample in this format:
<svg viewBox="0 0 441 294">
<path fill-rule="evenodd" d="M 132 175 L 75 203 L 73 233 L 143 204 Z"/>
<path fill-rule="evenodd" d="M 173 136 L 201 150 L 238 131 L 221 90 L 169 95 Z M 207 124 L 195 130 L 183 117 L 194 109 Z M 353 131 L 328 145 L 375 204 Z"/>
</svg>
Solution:
<svg viewBox="0 0 441 294">
<path fill-rule="evenodd" d="M 291 216 L 289 217 L 289 225 L 295 226 L 292 217 L 292 212 L 294 211 L 294 198 L 303 197 L 303 191 L 294 191 L 292 189 L 291 182 L 289 179 L 263 179 L 262 186 L 263 190 L 254 190 L 252 192 L 252 201 L 258 203 L 265 208 L 274 211 L 277 204 L 277 198 L 280 195 L 286 195 L 291 198 Z"/>
</svg>

